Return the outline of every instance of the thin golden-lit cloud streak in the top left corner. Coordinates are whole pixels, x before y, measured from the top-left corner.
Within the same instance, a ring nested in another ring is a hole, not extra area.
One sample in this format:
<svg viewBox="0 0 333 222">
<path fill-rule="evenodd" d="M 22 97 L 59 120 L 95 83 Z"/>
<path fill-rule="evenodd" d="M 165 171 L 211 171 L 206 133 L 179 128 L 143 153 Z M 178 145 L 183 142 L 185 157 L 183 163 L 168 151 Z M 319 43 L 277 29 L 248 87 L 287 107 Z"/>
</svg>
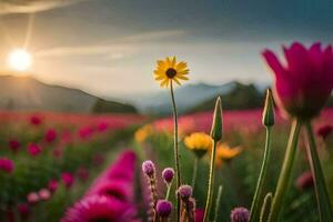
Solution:
<svg viewBox="0 0 333 222">
<path fill-rule="evenodd" d="M 87 0 L 1 0 L 0 14 L 47 11 Z"/>
</svg>

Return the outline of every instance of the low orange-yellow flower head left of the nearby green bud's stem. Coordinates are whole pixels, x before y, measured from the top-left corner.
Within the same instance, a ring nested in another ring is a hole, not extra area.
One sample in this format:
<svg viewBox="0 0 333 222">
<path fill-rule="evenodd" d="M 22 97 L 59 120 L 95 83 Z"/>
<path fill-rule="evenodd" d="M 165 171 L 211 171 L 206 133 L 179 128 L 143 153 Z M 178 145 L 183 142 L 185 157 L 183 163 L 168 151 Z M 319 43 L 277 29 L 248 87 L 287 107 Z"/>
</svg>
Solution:
<svg viewBox="0 0 333 222">
<path fill-rule="evenodd" d="M 184 139 L 184 143 L 198 158 L 201 158 L 212 148 L 212 138 L 204 132 L 194 132 Z"/>
</svg>

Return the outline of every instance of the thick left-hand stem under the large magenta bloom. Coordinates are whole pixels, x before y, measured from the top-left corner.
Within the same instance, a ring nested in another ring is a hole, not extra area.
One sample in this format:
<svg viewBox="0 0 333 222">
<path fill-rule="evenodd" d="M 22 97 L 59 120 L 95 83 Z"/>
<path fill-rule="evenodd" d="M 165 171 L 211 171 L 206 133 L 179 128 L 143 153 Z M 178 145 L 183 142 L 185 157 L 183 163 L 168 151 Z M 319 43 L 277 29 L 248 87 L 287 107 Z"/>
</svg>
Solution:
<svg viewBox="0 0 333 222">
<path fill-rule="evenodd" d="M 287 148 L 285 151 L 282 170 L 279 176 L 278 186 L 273 198 L 272 209 L 269 216 L 269 222 L 278 222 L 281 209 L 283 206 L 284 198 L 287 186 L 291 181 L 293 163 L 295 160 L 296 148 L 299 143 L 299 135 L 302 123 L 300 120 L 294 120 L 292 130 L 289 137 Z"/>
</svg>

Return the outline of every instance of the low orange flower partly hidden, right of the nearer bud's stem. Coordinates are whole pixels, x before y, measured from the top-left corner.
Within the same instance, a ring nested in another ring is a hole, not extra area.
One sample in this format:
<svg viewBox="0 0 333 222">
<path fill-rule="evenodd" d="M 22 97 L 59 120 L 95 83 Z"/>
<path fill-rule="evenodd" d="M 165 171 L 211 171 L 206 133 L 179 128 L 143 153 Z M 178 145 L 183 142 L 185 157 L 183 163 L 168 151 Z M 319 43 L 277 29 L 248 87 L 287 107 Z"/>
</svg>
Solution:
<svg viewBox="0 0 333 222">
<path fill-rule="evenodd" d="M 226 143 L 219 144 L 216 148 L 216 165 L 221 167 L 223 161 L 231 161 L 242 151 L 243 149 L 241 147 L 230 148 Z"/>
</svg>

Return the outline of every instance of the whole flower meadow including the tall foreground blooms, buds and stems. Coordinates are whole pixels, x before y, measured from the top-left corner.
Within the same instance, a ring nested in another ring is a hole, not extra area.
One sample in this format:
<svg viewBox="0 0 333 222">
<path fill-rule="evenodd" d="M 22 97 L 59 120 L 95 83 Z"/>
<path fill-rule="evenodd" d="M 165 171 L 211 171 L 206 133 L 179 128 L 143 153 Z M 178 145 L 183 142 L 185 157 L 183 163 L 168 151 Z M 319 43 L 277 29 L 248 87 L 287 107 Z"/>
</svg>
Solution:
<svg viewBox="0 0 333 222">
<path fill-rule="evenodd" d="M 0 112 L 1 221 L 333 221 L 332 47 L 283 50 L 263 109 L 179 115 L 167 57 L 172 117 Z"/>
</svg>

